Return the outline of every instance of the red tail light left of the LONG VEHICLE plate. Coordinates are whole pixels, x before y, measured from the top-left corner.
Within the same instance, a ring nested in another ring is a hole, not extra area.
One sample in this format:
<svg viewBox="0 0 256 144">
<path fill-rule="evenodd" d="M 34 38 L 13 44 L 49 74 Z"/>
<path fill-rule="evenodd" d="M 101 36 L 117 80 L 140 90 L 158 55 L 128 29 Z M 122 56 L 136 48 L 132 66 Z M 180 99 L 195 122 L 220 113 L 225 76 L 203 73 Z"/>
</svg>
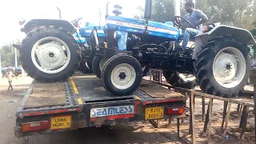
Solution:
<svg viewBox="0 0 256 144">
<path fill-rule="evenodd" d="M 22 132 L 39 131 L 49 129 L 48 121 L 22 123 Z"/>
</svg>

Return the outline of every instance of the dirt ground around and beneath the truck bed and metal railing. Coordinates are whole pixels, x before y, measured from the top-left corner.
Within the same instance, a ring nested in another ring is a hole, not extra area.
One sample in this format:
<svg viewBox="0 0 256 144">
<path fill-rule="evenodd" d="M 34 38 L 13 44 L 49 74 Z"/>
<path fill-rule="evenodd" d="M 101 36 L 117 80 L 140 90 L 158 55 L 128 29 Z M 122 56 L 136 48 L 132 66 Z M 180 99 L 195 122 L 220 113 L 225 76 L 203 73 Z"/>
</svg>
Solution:
<svg viewBox="0 0 256 144">
<path fill-rule="evenodd" d="M 22 100 L 23 95 L 26 92 L 28 86 L 32 82 L 32 78 L 18 77 L 18 80 L 14 79 L 13 91 L 7 91 L 6 79 L 0 79 L 0 144 L 84 144 L 84 143 L 183 143 L 177 138 L 176 120 L 172 122 L 170 126 L 163 126 L 162 128 L 155 129 L 148 122 L 137 122 L 128 125 L 117 125 L 112 129 L 108 126 L 101 128 L 86 128 L 81 130 L 73 130 L 68 132 L 59 132 L 55 134 L 43 134 L 35 135 L 26 138 L 16 138 L 14 136 L 14 124 L 15 124 L 15 112 Z M 248 100 L 248 99 L 247 99 Z M 249 98 L 250 102 L 252 99 Z M 206 100 L 207 102 L 207 100 Z M 189 103 L 187 103 L 189 106 Z M 214 143 L 254 143 L 254 131 L 249 131 L 246 134 L 246 141 L 240 141 L 234 134 L 228 134 L 230 138 L 228 140 L 223 139 L 218 134 L 218 130 L 222 121 L 222 105 L 223 102 L 214 100 L 213 110 L 213 142 Z M 207 108 L 207 106 L 206 106 Z M 230 122 L 228 131 L 232 131 L 231 128 L 237 128 L 239 125 L 239 116 L 235 112 L 237 105 L 231 106 Z M 252 110 L 252 108 L 250 108 Z M 187 113 L 188 114 L 188 113 Z M 195 99 L 195 114 L 196 114 L 196 131 L 198 143 L 207 143 L 206 136 L 202 134 L 202 102 L 201 98 Z M 182 124 L 181 130 L 184 138 L 190 139 L 188 131 L 187 117 L 185 123 Z M 166 122 L 162 122 L 165 124 Z M 247 127 L 254 126 L 254 118 L 250 112 Z M 199 135 L 201 134 L 201 135 Z"/>
</svg>

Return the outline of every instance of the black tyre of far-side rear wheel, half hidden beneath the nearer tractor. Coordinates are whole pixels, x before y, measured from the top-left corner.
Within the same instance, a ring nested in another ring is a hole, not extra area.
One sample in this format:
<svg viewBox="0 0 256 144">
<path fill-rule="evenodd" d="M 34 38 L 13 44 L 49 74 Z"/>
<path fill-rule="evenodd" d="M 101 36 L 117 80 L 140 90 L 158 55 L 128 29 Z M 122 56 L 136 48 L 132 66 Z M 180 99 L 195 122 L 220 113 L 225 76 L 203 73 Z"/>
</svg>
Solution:
<svg viewBox="0 0 256 144">
<path fill-rule="evenodd" d="M 196 86 L 195 79 L 192 81 L 183 81 L 182 78 L 179 78 L 176 72 L 173 71 L 163 71 L 163 76 L 166 78 L 166 82 L 170 83 L 171 86 L 181 87 L 184 89 L 194 89 Z"/>
</svg>

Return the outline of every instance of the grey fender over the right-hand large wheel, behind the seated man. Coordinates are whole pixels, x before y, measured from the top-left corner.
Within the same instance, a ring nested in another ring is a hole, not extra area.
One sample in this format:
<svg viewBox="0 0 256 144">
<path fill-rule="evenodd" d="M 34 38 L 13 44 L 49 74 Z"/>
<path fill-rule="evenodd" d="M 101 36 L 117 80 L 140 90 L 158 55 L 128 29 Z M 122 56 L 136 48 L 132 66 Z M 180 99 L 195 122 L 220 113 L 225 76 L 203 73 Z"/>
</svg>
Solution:
<svg viewBox="0 0 256 144">
<path fill-rule="evenodd" d="M 194 53 L 192 59 L 197 60 L 198 53 L 201 51 L 202 46 L 204 44 L 206 44 L 214 38 L 218 38 L 225 35 L 229 35 L 247 46 L 256 44 L 254 37 L 249 30 L 234 26 L 219 25 L 215 26 L 213 30 L 210 30 L 208 32 L 198 33 L 198 35 L 195 38 Z"/>
</svg>

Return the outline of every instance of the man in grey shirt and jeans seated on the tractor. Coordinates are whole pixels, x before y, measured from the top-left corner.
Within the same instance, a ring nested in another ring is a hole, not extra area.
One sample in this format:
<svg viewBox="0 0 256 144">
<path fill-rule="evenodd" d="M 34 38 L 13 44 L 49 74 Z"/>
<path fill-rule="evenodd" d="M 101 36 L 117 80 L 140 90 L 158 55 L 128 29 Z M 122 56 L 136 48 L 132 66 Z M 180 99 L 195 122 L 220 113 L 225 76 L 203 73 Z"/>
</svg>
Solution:
<svg viewBox="0 0 256 144">
<path fill-rule="evenodd" d="M 189 14 L 186 14 L 184 18 L 190 22 L 192 27 L 186 28 L 184 33 L 180 35 L 180 38 L 183 39 L 182 54 L 186 52 L 186 45 L 189 39 L 195 38 L 195 36 L 198 34 L 199 26 L 208 21 L 208 17 L 202 12 L 202 10 L 194 10 L 194 2 L 186 2 L 185 10 Z"/>
</svg>

